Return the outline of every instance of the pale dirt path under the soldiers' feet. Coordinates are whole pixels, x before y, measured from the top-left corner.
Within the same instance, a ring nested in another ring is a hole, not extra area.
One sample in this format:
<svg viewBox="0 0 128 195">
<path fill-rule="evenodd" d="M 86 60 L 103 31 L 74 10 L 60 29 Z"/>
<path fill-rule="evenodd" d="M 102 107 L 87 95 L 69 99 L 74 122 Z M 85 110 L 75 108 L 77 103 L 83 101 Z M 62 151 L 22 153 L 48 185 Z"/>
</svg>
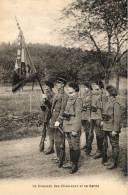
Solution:
<svg viewBox="0 0 128 195">
<path fill-rule="evenodd" d="M 59 169 L 52 160 L 55 154 L 46 156 L 39 152 L 39 141 L 40 137 L 0 142 L 0 178 L 69 177 L 68 170 Z M 83 142 L 84 138 L 82 144 Z M 46 147 L 47 145 L 48 143 Z M 93 148 L 95 149 L 95 143 Z M 82 151 L 80 169 L 76 175 L 108 175 L 118 180 L 122 173 L 120 168 L 112 171 L 106 170 L 101 164 L 101 159 L 94 160 L 92 157 L 86 157 Z"/>
</svg>

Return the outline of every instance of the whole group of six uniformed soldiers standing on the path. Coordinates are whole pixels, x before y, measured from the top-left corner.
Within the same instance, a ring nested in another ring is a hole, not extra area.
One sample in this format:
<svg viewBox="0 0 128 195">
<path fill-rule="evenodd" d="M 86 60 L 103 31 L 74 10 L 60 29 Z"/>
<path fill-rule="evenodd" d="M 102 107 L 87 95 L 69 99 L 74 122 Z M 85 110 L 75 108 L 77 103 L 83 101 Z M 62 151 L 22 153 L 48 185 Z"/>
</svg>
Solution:
<svg viewBox="0 0 128 195">
<path fill-rule="evenodd" d="M 101 158 L 107 169 L 114 169 L 119 157 L 120 104 L 117 90 L 112 85 L 104 88 L 102 81 L 67 82 L 58 77 L 54 82 L 44 83 L 42 95 L 42 136 L 40 151 L 45 155 L 56 152 L 58 167 L 70 168 L 70 173 L 78 171 L 80 158 L 81 129 L 85 132 L 83 150 L 91 156 L 94 133 L 96 153 L 94 159 Z M 49 147 L 44 148 L 46 134 Z M 70 163 L 66 166 L 65 140 L 69 145 Z M 112 158 L 108 158 L 108 144 L 112 146 Z M 45 149 L 45 150 L 44 150 Z"/>
</svg>

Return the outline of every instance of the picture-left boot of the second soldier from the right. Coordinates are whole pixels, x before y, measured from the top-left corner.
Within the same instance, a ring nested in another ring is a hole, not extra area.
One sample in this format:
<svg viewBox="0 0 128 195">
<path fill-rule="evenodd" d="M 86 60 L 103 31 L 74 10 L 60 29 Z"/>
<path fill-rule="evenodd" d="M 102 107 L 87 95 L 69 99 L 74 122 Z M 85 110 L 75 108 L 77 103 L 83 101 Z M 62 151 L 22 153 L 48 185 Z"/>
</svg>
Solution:
<svg viewBox="0 0 128 195">
<path fill-rule="evenodd" d="M 96 140 L 97 140 L 97 151 L 93 157 L 94 159 L 102 158 L 102 149 L 103 149 L 103 139 L 97 136 Z"/>
</svg>

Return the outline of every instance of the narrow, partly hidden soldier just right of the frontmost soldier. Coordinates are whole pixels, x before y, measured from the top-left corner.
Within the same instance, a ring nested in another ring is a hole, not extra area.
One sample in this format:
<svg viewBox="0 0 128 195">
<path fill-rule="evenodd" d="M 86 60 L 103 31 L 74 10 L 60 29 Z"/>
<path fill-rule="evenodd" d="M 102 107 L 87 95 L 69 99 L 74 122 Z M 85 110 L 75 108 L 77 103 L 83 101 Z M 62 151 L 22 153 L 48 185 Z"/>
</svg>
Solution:
<svg viewBox="0 0 128 195">
<path fill-rule="evenodd" d="M 83 107 L 82 107 L 82 126 L 85 132 L 85 140 L 86 144 L 83 147 L 86 152 L 87 143 L 88 143 L 88 136 L 90 130 L 90 114 L 91 114 L 91 85 L 88 82 L 83 83 L 84 92 L 81 96 Z"/>
</svg>

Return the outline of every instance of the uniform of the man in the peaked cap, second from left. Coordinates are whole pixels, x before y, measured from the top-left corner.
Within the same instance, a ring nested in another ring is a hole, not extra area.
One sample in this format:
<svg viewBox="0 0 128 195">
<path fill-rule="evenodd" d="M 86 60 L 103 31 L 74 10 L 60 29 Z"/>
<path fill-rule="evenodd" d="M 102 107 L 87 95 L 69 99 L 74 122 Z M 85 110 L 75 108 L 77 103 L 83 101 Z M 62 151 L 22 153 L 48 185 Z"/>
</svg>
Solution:
<svg viewBox="0 0 128 195">
<path fill-rule="evenodd" d="M 51 119 L 50 119 L 50 127 L 48 130 L 49 138 L 50 138 L 50 146 L 49 151 L 53 150 L 54 142 L 56 147 L 56 154 L 58 159 L 60 159 L 60 153 L 64 153 L 64 134 L 60 131 L 62 128 L 62 114 L 64 111 L 64 106 L 66 104 L 67 95 L 64 93 L 64 90 L 61 89 L 58 94 L 56 94 L 53 98 L 52 108 L 51 108 Z M 55 122 L 59 121 L 61 123 L 61 128 L 55 127 Z M 60 150 L 60 148 L 62 148 Z M 51 152 L 50 152 L 51 153 Z M 47 154 L 47 152 L 46 152 Z M 64 155 L 61 155 L 64 156 Z M 64 158 L 64 157 L 63 157 Z"/>
</svg>

